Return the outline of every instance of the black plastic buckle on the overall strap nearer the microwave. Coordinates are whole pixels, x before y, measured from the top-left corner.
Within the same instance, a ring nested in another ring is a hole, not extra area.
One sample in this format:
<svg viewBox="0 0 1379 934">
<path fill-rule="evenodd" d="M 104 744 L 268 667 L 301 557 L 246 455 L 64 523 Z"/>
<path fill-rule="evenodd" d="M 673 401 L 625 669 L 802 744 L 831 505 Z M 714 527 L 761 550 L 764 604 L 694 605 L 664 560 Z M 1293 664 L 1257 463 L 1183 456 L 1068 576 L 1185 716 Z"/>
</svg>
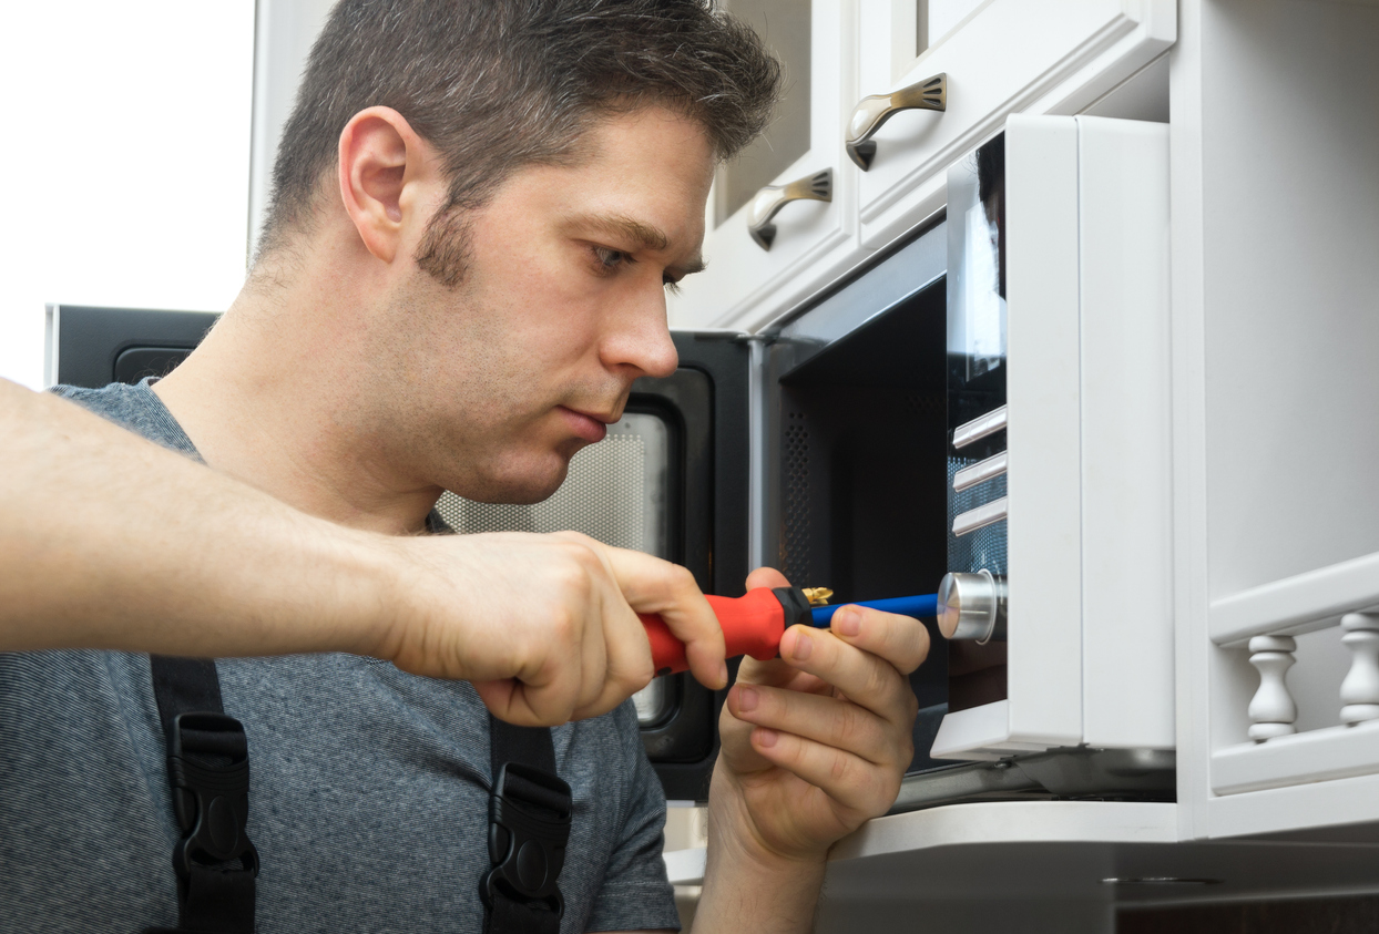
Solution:
<svg viewBox="0 0 1379 934">
<path fill-rule="evenodd" d="M 542 769 L 507 762 L 488 796 L 490 869 L 479 886 L 492 909 L 498 897 L 546 902 L 558 920 L 565 900 L 556 882 L 570 842 L 570 785 Z"/>
</svg>

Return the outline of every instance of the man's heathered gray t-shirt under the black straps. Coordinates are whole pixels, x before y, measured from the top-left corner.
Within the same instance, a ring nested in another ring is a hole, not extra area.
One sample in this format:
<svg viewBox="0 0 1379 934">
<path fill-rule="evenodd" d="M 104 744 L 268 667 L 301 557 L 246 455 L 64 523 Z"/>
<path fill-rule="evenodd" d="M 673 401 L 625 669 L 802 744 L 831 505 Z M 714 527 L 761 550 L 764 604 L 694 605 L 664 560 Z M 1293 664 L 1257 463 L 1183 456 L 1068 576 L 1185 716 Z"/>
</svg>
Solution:
<svg viewBox="0 0 1379 934">
<path fill-rule="evenodd" d="M 196 456 L 146 384 L 58 393 Z M 349 654 L 217 667 L 248 734 L 259 933 L 477 934 L 490 766 L 473 686 Z M 574 793 L 561 931 L 678 927 L 632 704 L 553 734 Z M 164 756 L 148 656 L 0 653 L 0 930 L 175 927 Z"/>
</svg>

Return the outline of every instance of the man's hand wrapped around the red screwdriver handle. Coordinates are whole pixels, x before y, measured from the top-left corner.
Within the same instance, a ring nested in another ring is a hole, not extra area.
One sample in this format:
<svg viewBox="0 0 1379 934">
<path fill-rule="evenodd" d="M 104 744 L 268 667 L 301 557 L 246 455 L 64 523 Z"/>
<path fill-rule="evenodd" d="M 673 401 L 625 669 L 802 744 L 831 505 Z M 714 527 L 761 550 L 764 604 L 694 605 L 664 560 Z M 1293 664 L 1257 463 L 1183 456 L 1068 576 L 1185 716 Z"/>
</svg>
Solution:
<svg viewBox="0 0 1379 934">
<path fill-rule="evenodd" d="M 575 532 L 389 544 L 403 568 L 396 612 L 368 653 L 416 675 L 470 681 L 509 723 L 597 716 L 645 687 L 655 671 L 637 613 L 665 619 L 703 685 L 727 685 L 723 631 L 678 565 Z"/>
</svg>

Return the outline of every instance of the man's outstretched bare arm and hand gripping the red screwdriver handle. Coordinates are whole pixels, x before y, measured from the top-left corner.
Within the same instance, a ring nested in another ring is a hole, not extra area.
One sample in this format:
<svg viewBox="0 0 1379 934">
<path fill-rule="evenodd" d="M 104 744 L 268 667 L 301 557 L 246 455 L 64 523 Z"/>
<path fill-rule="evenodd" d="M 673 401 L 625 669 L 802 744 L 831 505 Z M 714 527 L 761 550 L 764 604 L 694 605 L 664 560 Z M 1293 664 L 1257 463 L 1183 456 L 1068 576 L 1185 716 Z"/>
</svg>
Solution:
<svg viewBox="0 0 1379 934">
<path fill-rule="evenodd" d="M 52 395 L 0 380 L 0 650 L 352 652 L 473 681 L 563 723 L 652 675 L 634 609 L 720 685 L 688 572 L 582 536 L 389 537 L 336 526 Z"/>
</svg>

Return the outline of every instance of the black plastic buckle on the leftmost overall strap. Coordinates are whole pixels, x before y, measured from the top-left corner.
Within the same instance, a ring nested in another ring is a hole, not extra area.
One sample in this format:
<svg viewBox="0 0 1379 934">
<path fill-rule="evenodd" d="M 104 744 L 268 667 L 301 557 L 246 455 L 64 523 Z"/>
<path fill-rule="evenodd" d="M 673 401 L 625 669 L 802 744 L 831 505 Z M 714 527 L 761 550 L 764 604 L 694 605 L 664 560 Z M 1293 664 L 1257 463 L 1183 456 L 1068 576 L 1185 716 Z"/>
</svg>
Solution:
<svg viewBox="0 0 1379 934">
<path fill-rule="evenodd" d="M 193 864 L 232 860 L 256 876 L 258 850 L 245 833 L 250 752 L 244 727 L 225 714 L 178 714 L 168 740 L 172 811 L 183 832 L 172 850 L 178 879 L 185 884 Z"/>
</svg>

